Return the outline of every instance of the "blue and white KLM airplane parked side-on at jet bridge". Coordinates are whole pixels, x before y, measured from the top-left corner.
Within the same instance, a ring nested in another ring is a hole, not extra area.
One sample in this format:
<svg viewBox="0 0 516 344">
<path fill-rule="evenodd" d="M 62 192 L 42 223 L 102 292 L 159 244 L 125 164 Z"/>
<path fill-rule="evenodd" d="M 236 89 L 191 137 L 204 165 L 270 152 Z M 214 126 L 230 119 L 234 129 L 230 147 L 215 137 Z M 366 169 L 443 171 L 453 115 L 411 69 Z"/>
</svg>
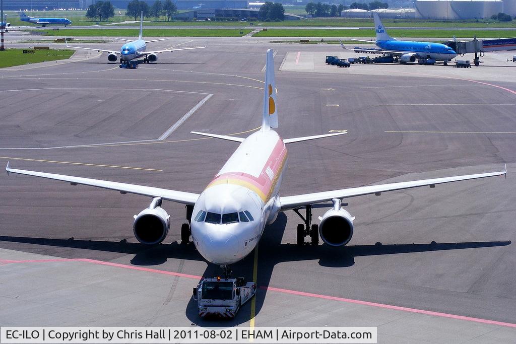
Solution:
<svg viewBox="0 0 516 344">
<path fill-rule="evenodd" d="M 401 63 L 415 62 L 418 59 L 435 59 L 436 61 L 443 61 L 446 65 L 448 61 L 457 56 L 457 53 L 447 45 L 441 43 L 430 42 L 415 42 L 415 41 L 398 41 L 387 33 L 383 26 L 378 13 L 373 13 L 376 27 L 376 42 L 375 44 L 381 51 L 372 52 L 373 54 L 390 54 L 399 56 Z M 368 42 L 356 39 L 354 41 Z M 341 46 L 344 47 L 344 44 Z M 346 49 L 347 50 L 347 49 Z"/>
</svg>

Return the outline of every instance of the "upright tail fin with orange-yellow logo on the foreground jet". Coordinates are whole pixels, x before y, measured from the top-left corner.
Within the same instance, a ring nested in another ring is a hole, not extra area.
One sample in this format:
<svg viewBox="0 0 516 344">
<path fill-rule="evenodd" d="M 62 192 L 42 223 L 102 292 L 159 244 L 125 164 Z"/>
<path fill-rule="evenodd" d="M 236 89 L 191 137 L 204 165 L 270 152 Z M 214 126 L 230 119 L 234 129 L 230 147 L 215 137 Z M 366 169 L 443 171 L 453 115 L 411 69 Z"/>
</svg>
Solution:
<svg viewBox="0 0 516 344">
<path fill-rule="evenodd" d="M 278 109 L 276 107 L 276 82 L 274 80 L 274 54 L 267 50 L 265 65 L 265 90 L 263 95 L 262 130 L 278 127 Z"/>
</svg>

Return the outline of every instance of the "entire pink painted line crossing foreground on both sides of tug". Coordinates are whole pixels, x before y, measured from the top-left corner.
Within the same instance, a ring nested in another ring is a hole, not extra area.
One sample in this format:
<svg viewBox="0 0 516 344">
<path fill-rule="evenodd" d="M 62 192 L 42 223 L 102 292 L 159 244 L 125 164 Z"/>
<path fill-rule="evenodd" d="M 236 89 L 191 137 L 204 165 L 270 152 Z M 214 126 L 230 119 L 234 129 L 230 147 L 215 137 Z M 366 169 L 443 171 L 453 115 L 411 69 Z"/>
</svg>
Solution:
<svg viewBox="0 0 516 344">
<path fill-rule="evenodd" d="M 49 261 L 83 261 L 85 263 L 92 263 L 92 264 L 98 264 L 98 265 L 106 265 L 106 266 L 112 266 L 112 267 L 123 268 L 123 269 L 131 269 L 131 270 L 159 273 L 159 274 L 164 274 L 164 275 L 185 277 L 187 279 L 200 280 L 202 278 L 202 276 L 197 276 L 197 275 L 189 275 L 189 274 L 179 273 L 179 272 L 164 271 L 164 270 L 157 270 L 157 269 L 150 269 L 150 268 L 142 268 L 142 267 L 137 267 L 137 266 L 124 265 L 124 264 L 118 264 L 118 263 L 110 263 L 109 261 L 101 261 L 101 260 L 94 260 L 94 259 L 87 259 L 87 258 L 75 258 L 75 259 L 65 259 L 65 258 L 62 258 L 62 259 L 31 259 L 31 260 L 7 260 L 7 259 L 0 259 L 0 263 L 40 263 L 40 262 L 49 262 Z M 263 287 L 262 286 L 262 287 L 259 287 L 259 288 L 263 289 L 263 290 L 267 290 L 267 291 L 276 291 L 276 292 L 282 292 L 282 293 L 285 293 L 285 294 L 304 296 L 304 297 L 309 297 L 309 298 L 317 298 L 317 299 L 324 299 L 324 300 L 331 300 L 331 301 L 340 301 L 340 302 L 354 303 L 354 304 L 359 304 L 359 305 L 379 307 L 379 308 L 385 308 L 385 309 L 401 310 L 402 312 L 425 314 L 425 315 L 432 315 L 432 316 L 442 317 L 442 318 L 450 318 L 450 319 L 456 319 L 456 320 L 473 321 L 473 322 L 478 322 L 478 323 L 483 323 L 483 324 L 488 324 L 488 325 L 497 325 L 497 326 L 505 326 L 505 327 L 514 327 L 514 328 L 516 328 L 516 324 L 510 323 L 510 322 L 502 322 L 502 321 L 495 321 L 495 320 L 488 320 L 488 319 L 465 317 L 465 316 L 455 315 L 455 314 L 447 314 L 447 313 L 441 313 L 441 312 L 432 312 L 431 310 L 409 308 L 409 307 L 401 307 L 401 306 L 393 306 L 393 305 L 388 305 L 388 304 L 383 304 L 383 303 L 376 303 L 376 302 L 369 302 L 369 301 L 361 301 L 361 300 L 339 298 L 339 297 L 336 297 L 336 296 L 329 296 L 329 295 L 323 295 L 323 294 L 314 294 L 314 293 L 311 293 L 311 292 L 304 292 L 304 291 L 297 291 L 297 290 L 290 290 L 290 289 L 282 289 L 282 288 L 276 288 L 276 287 Z"/>
</svg>

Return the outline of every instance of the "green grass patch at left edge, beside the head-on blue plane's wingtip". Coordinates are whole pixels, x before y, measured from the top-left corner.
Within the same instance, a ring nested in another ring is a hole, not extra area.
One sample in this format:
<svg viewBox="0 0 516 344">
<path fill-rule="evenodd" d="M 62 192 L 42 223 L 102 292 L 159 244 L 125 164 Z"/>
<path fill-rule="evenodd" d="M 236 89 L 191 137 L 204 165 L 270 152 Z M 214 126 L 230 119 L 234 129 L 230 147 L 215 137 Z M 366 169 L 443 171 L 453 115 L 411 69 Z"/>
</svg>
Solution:
<svg viewBox="0 0 516 344">
<path fill-rule="evenodd" d="M 12 67 L 26 63 L 37 63 L 44 61 L 55 61 L 70 58 L 73 50 L 35 50 L 34 54 L 23 54 L 24 49 L 7 49 L 0 51 L 0 68 Z"/>
</svg>

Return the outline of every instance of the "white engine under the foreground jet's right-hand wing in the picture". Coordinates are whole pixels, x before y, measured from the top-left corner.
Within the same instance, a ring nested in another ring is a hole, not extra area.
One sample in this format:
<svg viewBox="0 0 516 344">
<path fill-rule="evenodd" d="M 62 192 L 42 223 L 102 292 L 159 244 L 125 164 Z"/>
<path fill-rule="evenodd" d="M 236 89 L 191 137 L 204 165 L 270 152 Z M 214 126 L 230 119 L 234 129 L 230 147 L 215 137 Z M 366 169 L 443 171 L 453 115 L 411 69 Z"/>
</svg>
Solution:
<svg viewBox="0 0 516 344">
<path fill-rule="evenodd" d="M 346 210 L 331 209 L 325 212 L 319 224 L 319 235 L 330 246 L 342 246 L 353 236 L 353 217 Z"/>
</svg>

